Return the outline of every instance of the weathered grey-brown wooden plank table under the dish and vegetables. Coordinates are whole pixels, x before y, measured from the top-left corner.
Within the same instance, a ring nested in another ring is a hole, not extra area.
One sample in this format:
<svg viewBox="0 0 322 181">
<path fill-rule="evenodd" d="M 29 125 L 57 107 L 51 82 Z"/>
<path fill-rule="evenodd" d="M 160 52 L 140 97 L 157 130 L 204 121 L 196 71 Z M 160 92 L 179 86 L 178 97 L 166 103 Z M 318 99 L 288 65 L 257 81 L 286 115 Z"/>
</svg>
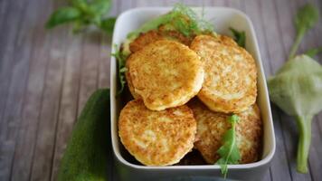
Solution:
<svg viewBox="0 0 322 181">
<path fill-rule="evenodd" d="M 110 38 L 73 35 L 70 26 L 45 31 L 52 9 L 67 0 L 0 1 L 0 180 L 55 180 L 66 141 L 85 101 L 109 87 Z M 267 76 L 285 62 L 294 41 L 292 19 L 306 0 L 207 0 L 187 5 L 230 6 L 251 17 Z M 322 12 L 322 1 L 311 0 Z M 114 0 L 112 15 L 137 6 L 175 1 Z M 322 19 L 322 17 L 321 17 Z M 300 46 L 322 46 L 322 21 Z M 322 56 L 318 56 L 322 62 Z M 322 102 L 321 102 L 322 103 Z M 295 121 L 272 106 L 275 157 L 263 180 L 322 179 L 322 114 L 312 126 L 309 172 L 296 172 Z"/>
</svg>

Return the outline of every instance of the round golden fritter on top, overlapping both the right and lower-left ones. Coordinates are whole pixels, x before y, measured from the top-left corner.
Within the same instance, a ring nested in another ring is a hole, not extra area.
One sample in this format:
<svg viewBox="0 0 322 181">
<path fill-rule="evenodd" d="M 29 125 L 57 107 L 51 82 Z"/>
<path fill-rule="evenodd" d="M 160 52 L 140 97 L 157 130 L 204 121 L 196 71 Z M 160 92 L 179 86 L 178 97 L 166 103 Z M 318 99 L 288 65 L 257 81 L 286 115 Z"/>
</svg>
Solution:
<svg viewBox="0 0 322 181">
<path fill-rule="evenodd" d="M 204 69 L 199 56 L 175 41 L 156 41 L 128 58 L 134 92 L 150 110 L 184 105 L 201 89 Z"/>
</svg>

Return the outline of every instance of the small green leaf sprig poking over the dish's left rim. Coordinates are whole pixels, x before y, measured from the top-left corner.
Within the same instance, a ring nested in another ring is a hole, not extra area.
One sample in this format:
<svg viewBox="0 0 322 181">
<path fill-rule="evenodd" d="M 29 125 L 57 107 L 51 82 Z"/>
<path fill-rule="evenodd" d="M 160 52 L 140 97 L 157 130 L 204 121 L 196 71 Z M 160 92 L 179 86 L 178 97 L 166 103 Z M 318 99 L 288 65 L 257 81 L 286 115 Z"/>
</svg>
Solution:
<svg viewBox="0 0 322 181">
<path fill-rule="evenodd" d="M 117 51 L 112 53 L 112 55 L 118 60 L 119 89 L 117 95 L 119 95 L 122 93 L 125 88 L 125 84 L 127 83 L 127 81 L 125 81 L 125 72 L 128 71 L 125 67 L 127 56 L 122 53 L 121 48 L 118 48 L 117 45 L 115 45 L 115 49 Z"/>
</svg>

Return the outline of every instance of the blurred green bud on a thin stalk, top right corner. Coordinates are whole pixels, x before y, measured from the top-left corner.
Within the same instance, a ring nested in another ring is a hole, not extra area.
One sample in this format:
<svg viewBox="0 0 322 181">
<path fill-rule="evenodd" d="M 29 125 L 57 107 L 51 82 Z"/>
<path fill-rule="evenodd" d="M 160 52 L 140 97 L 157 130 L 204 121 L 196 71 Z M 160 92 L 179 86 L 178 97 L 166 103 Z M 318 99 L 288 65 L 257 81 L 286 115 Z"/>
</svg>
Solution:
<svg viewBox="0 0 322 181">
<path fill-rule="evenodd" d="M 295 27 L 297 29 L 297 37 L 289 52 L 289 60 L 294 57 L 298 51 L 298 45 L 301 43 L 303 36 L 308 32 L 318 21 L 318 11 L 314 5 L 307 4 L 301 7 L 295 17 Z"/>
</svg>

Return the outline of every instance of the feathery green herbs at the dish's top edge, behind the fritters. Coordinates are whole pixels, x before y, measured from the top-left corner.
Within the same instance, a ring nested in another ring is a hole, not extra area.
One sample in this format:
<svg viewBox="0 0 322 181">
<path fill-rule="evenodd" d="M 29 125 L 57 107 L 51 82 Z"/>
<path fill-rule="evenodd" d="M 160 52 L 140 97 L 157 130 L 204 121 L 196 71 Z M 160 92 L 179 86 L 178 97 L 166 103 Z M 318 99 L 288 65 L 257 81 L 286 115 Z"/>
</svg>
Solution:
<svg viewBox="0 0 322 181">
<path fill-rule="evenodd" d="M 194 13 L 190 7 L 175 4 L 174 9 L 168 14 L 163 14 L 143 24 L 136 31 L 128 34 L 128 39 L 135 38 L 139 33 L 156 29 L 161 24 L 174 28 L 185 36 L 200 33 L 213 33 L 213 25 Z"/>
</svg>

